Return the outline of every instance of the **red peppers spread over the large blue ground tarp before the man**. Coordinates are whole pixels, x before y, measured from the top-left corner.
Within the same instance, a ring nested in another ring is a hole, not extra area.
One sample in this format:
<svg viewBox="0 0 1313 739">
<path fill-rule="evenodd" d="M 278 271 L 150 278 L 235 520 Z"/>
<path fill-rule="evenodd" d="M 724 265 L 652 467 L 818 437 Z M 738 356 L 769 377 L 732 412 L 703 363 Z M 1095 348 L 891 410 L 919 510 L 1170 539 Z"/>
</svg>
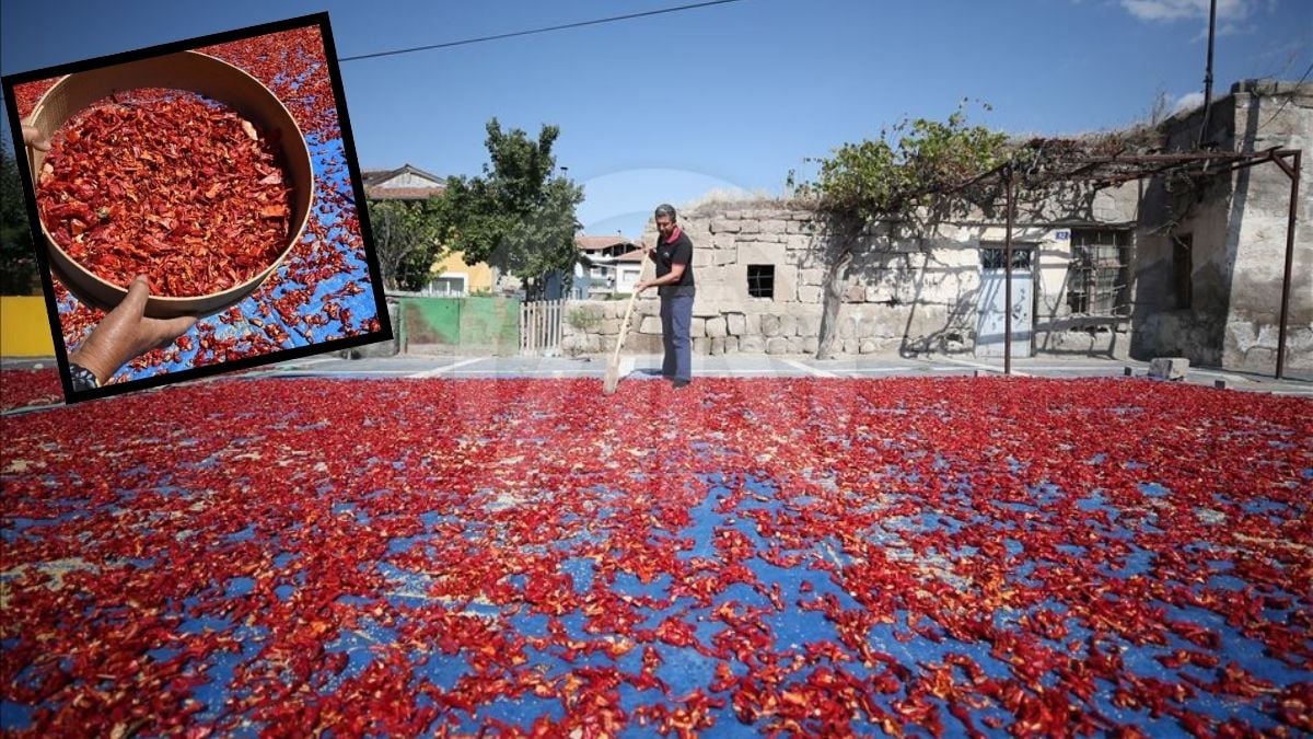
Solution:
<svg viewBox="0 0 1313 739">
<path fill-rule="evenodd" d="M 225 379 L 0 423 L 18 732 L 1313 731 L 1306 398 Z"/>
</svg>

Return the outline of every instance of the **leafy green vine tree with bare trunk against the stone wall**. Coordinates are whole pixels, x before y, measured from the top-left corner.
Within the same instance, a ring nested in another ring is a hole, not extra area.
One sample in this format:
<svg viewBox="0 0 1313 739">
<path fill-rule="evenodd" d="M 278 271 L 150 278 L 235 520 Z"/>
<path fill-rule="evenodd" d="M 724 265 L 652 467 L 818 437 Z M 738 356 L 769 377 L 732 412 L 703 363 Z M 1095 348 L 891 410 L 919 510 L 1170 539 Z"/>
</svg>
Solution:
<svg viewBox="0 0 1313 739">
<path fill-rule="evenodd" d="M 821 164 L 815 181 L 789 185 L 831 216 L 839 246 L 825 277 L 818 359 L 834 356 L 843 285 L 867 226 L 876 221 L 934 221 L 955 185 L 989 171 L 1006 156 L 1007 135 L 966 125 L 958 108 L 947 121 L 916 118 L 876 139 L 846 143 Z"/>
</svg>

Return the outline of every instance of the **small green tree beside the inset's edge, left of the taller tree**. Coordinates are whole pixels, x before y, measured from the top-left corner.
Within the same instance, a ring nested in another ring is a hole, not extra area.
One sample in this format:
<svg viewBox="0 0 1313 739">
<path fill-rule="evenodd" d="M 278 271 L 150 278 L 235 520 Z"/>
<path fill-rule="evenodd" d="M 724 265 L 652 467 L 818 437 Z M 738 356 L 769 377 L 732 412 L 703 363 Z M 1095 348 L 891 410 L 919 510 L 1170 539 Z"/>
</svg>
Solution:
<svg viewBox="0 0 1313 739">
<path fill-rule="evenodd" d="M 383 287 L 423 289 L 432 277 L 433 263 L 445 252 L 439 241 L 435 199 L 370 200 L 368 208 Z"/>
</svg>

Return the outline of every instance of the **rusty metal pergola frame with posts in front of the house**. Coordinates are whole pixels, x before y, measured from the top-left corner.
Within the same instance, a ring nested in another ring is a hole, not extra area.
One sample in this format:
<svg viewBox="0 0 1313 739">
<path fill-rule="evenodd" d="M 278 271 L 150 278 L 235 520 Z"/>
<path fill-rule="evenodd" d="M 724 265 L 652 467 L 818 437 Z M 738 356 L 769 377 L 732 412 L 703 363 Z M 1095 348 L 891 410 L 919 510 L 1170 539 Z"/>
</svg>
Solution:
<svg viewBox="0 0 1313 739">
<path fill-rule="evenodd" d="M 1237 170 L 1272 162 L 1291 180 L 1289 216 L 1285 222 L 1285 271 L 1281 277 L 1281 310 L 1276 339 L 1276 379 L 1285 371 L 1285 330 L 1289 321 L 1291 271 L 1295 263 L 1295 222 L 1300 192 L 1300 159 L 1302 150 L 1272 147 L 1263 151 L 1183 151 L 1173 154 L 1111 154 L 1082 153 L 1071 142 L 1036 139 L 1008 158 L 1007 162 L 949 188 L 944 195 L 961 192 L 986 183 L 997 183 L 1004 195 L 1003 264 L 1004 305 L 1012 305 L 1012 221 L 1016 210 L 1016 189 L 1043 188 L 1064 183 L 1085 183 L 1102 189 L 1146 178 L 1182 175 L 1203 180 L 1226 175 Z M 1012 312 L 1004 310 L 1003 373 L 1012 373 Z"/>
</svg>

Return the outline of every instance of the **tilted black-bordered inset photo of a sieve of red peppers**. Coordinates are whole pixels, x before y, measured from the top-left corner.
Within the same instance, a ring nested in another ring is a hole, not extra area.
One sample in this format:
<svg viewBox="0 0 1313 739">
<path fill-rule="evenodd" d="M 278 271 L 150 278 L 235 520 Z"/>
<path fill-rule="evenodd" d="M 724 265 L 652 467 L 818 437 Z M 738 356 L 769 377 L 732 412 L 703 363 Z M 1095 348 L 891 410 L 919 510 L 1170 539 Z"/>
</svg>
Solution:
<svg viewBox="0 0 1313 739">
<path fill-rule="evenodd" d="M 4 91 L 68 400 L 391 338 L 326 13 Z"/>
</svg>

